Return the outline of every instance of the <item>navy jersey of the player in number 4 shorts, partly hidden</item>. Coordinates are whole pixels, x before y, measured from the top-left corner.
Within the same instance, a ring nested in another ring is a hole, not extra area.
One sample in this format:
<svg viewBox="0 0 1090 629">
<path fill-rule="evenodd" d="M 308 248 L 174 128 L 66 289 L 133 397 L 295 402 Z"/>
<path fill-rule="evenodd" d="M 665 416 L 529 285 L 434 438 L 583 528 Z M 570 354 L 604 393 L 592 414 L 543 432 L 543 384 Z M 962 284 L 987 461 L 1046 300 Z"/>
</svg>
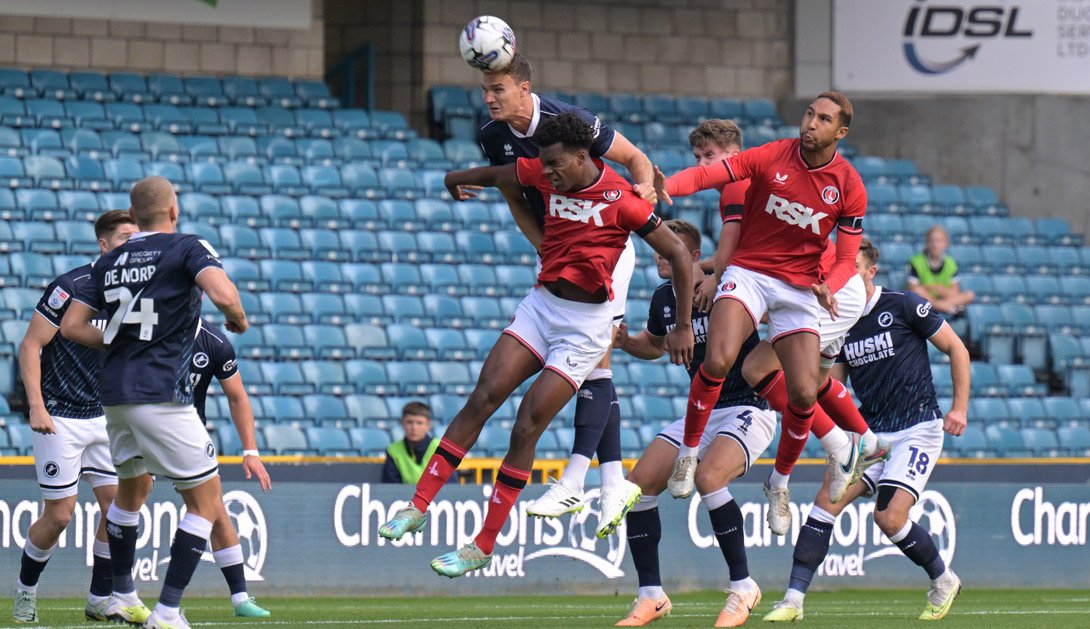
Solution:
<svg viewBox="0 0 1090 629">
<path fill-rule="evenodd" d="M 674 329 L 676 322 L 677 297 L 674 294 L 674 285 L 667 281 L 656 288 L 654 294 L 651 295 L 651 305 L 647 307 L 647 332 L 656 337 L 664 337 Z M 692 336 L 692 362 L 689 363 L 689 379 L 697 375 L 697 370 L 704 363 L 704 352 L 707 350 L 707 313 L 693 309 Z M 768 402 L 756 395 L 742 377 L 742 363 L 746 362 L 746 356 L 759 342 L 761 342 L 761 336 L 754 331 L 742 343 L 735 366 L 727 372 L 727 377 L 723 380 L 719 399 L 715 402 L 716 409 L 730 407 L 768 408 Z"/>
</svg>

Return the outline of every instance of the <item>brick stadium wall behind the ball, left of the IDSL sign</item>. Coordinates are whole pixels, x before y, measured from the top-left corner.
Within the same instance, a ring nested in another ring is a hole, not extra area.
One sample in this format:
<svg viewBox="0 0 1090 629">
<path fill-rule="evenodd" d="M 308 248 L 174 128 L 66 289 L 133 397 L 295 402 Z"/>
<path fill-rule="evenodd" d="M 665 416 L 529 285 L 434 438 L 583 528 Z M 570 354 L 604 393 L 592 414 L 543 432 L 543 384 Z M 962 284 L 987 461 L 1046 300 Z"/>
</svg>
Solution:
<svg viewBox="0 0 1090 629">
<path fill-rule="evenodd" d="M 379 108 L 421 126 L 432 85 L 477 84 L 458 56 L 474 15 L 518 35 L 538 89 L 779 98 L 790 93 L 788 0 L 327 0 L 326 59 L 371 43 Z"/>
</svg>

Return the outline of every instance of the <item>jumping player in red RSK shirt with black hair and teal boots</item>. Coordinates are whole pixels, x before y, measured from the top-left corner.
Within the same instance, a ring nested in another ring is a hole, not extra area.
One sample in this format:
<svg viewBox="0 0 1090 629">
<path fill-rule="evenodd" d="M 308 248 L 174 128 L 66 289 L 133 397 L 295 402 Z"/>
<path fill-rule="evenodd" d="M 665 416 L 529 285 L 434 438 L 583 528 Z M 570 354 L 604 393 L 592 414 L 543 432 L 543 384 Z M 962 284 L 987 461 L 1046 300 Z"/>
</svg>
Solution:
<svg viewBox="0 0 1090 629">
<path fill-rule="evenodd" d="M 496 535 L 530 477 L 538 437 L 609 350 L 611 275 L 633 231 L 673 265 L 681 323 L 667 335 L 667 344 L 677 364 L 692 356 L 692 265 L 685 245 L 661 228 L 651 205 L 635 196 L 625 179 L 590 156 L 593 129 L 578 116 L 564 113 L 544 122 L 536 140 L 537 159 L 447 174 L 447 188 L 456 198 L 462 198 L 460 185 L 533 185 L 549 210 L 537 286 L 519 304 L 485 360 L 476 387 L 450 422 L 411 504 L 379 528 L 379 534 L 391 540 L 423 529 L 427 506 L 485 422 L 519 385 L 541 372 L 519 406 L 481 532 L 457 552 L 432 560 L 432 568 L 446 577 L 492 561 Z M 619 520 L 609 524 L 616 528 Z"/>
</svg>

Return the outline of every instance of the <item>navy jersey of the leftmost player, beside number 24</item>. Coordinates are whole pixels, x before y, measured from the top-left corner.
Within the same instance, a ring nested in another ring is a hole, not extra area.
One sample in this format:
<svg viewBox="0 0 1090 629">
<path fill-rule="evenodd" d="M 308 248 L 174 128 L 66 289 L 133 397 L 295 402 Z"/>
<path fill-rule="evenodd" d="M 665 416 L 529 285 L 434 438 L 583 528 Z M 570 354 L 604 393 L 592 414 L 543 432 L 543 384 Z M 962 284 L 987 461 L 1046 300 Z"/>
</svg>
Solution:
<svg viewBox="0 0 1090 629">
<path fill-rule="evenodd" d="M 90 281 L 92 266 L 85 264 L 58 277 L 46 287 L 35 311 L 46 320 L 60 327 L 76 286 Z M 95 317 L 92 323 L 106 328 L 106 317 Z M 70 341 L 61 335 L 53 336 L 41 348 L 41 398 L 46 410 L 55 418 L 86 420 L 102 415 L 98 399 L 98 385 L 102 373 L 102 352 Z"/>
</svg>

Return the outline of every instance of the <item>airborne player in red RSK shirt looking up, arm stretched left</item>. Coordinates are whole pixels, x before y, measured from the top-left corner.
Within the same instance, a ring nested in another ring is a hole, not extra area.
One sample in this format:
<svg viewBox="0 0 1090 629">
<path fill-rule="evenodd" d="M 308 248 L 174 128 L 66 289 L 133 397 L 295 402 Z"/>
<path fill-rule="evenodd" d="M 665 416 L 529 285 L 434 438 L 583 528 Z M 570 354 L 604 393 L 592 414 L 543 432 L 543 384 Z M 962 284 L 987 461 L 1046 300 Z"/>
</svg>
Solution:
<svg viewBox="0 0 1090 629">
<path fill-rule="evenodd" d="M 855 275 L 855 257 L 862 237 L 867 192 L 859 174 L 836 147 L 848 134 L 851 102 L 838 92 L 815 98 L 802 117 L 798 140 L 780 140 L 744 150 L 713 166 L 685 170 L 662 182 L 659 196 L 692 194 L 743 179 L 750 180 L 737 245 L 729 255 L 716 255 L 717 285 L 708 329 L 708 348 L 689 391 L 685 447 L 670 479 L 670 493 L 692 492 L 697 447 L 707 424 L 723 378 L 734 366 L 744 339 L 766 313 L 771 342 L 784 365 L 788 403 L 776 467 L 765 483 L 768 527 L 784 534 L 790 525 L 787 483 L 802 452 L 814 418 L 827 423 L 815 404 L 820 377 L 819 311 L 835 318 L 834 293 Z M 836 257 L 822 281 L 820 262 L 825 241 L 838 231 Z M 720 247 L 731 246 L 720 242 Z M 724 267 L 729 261 L 729 265 Z M 855 473 L 862 458 L 859 437 L 841 433 L 832 450 L 829 469 L 844 477 Z"/>
</svg>

